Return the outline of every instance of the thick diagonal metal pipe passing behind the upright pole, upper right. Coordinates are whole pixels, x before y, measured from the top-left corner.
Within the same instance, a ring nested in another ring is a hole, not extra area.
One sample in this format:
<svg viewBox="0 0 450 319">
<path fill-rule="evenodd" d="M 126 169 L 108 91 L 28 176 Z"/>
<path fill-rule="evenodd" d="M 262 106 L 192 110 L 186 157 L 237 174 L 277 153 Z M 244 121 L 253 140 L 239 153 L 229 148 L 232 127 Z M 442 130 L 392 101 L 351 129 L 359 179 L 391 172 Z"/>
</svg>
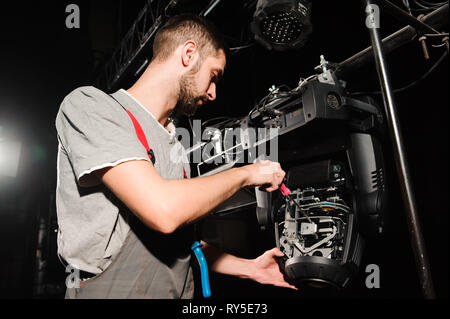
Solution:
<svg viewBox="0 0 450 319">
<path fill-rule="evenodd" d="M 427 23 L 433 28 L 445 27 L 449 23 L 448 14 L 448 4 L 446 4 L 424 16 L 421 21 Z M 399 47 L 411 42 L 416 35 L 416 30 L 411 26 L 406 26 L 398 30 L 383 39 L 383 52 L 388 54 L 395 49 L 398 49 Z M 373 61 L 373 49 L 372 47 L 368 47 L 345 61 L 340 62 L 335 74 L 338 78 L 346 79 L 354 74 L 355 70 L 371 61 Z"/>
</svg>

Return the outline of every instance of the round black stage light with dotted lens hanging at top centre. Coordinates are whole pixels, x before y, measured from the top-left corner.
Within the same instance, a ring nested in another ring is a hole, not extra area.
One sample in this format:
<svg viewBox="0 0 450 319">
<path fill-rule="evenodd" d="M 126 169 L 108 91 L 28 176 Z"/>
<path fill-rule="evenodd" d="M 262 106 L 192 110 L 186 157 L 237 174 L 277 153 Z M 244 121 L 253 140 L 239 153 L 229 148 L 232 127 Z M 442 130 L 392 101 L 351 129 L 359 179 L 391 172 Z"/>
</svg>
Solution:
<svg viewBox="0 0 450 319">
<path fill-rule="evenodd" d="M 269 50 L 303 47 L 312 32 L 310 0 L 259 0 L 251 24 L 255 39 Z"/>
</svg>

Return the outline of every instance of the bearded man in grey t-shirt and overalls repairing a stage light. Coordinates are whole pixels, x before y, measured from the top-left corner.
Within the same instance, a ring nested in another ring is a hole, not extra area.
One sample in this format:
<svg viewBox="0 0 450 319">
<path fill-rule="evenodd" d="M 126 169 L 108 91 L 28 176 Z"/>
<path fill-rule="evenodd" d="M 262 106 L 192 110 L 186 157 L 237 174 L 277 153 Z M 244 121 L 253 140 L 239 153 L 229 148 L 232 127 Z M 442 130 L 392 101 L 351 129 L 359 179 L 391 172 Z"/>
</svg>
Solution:
<svg viewBox="0 0 450 319">
<path fill-rule="evenodd" d="M 278 163 L 187 179 L 186 160 L 173 158 L 180 143 L 169 115 L 192 115 L 216 98 L 225 50 L 209 23 L 176 16 L 158 31 L 152 62 L 129 90 L 109 96 L 83 87 L 64 99 L 55 123 L 58 253 L 82 279 L 66 298 L 192 298 L 193 223 L 241 187 L 271 192 L 282 183 Z M 207 243 L 203 251 L 212 271 L 295 288 L 279 270 L 276 248 L 254 260 Z"/>
</svg>

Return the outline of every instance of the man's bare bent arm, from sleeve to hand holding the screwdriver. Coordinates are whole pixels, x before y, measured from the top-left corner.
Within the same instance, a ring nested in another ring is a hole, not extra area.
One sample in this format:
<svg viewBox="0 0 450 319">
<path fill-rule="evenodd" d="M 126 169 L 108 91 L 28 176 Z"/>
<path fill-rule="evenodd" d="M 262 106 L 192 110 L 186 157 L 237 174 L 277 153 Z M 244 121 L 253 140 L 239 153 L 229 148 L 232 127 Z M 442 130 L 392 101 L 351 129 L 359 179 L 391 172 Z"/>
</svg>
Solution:
<svg viewBox="0 0 450 319">
<path fill-rule="evenodd" d="M 246 186 L 278 189 L 285 172 L 278 163 L 263 161 L 207 177 L 165 180 L 147 161 L 129 161 L 93 174 L 147 226 L 172 233 L 210 212 Z"/>
</svg>

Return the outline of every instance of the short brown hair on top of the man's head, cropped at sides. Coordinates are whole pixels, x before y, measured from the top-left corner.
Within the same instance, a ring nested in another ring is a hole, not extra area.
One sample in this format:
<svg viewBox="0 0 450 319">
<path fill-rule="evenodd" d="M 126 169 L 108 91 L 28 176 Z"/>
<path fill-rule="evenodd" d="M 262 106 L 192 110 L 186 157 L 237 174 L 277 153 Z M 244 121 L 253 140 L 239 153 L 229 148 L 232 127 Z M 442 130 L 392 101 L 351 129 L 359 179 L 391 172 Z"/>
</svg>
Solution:
<svg viewBox="0 0 450 319">
<path fill-rule="evenodd" d="M 222 34 L 209 21 L 191 13 L 171 17 L 156 33 L 153 42 L 153 60 L 165 61 L 180 45 L 188 40 L 197 44 L 200 60 L 217 55 L 228 47 Z"/>
</svg>

